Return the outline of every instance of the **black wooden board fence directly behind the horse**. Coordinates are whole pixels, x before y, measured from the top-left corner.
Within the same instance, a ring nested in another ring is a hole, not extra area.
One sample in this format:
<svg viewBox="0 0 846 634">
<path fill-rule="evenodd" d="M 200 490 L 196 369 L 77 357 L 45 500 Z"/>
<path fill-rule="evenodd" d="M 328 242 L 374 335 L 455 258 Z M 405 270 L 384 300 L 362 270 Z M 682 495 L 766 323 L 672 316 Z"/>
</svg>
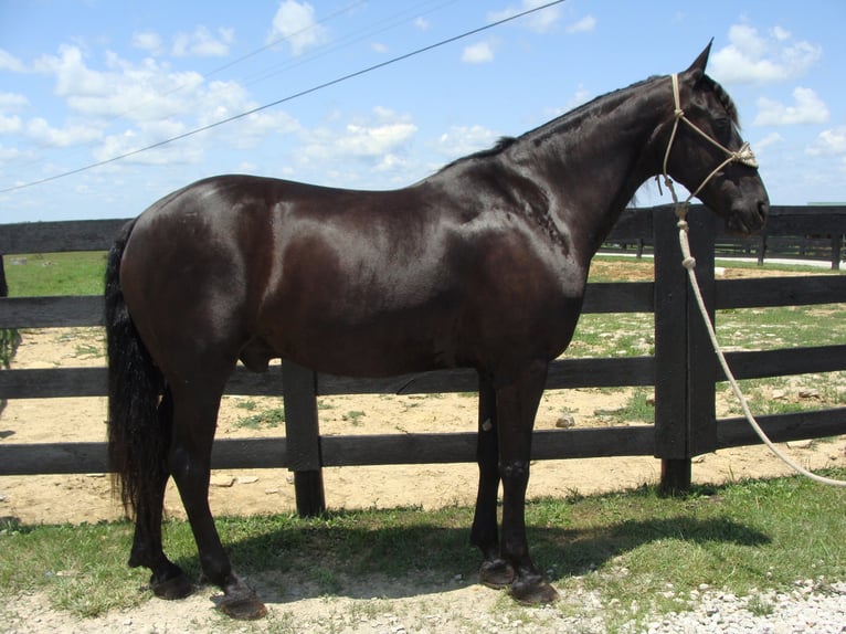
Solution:
<svg viewBox="0 0 846 634">
<path fill-rule="evenodd" d="M 775 208 L 773 216 L 801 214 L 802 234 L 846 233 L 844 208 Z M 125 221 L 45 222 L 0 225 L 0 254 L 98 251 L 109 247 Z M 697 274 L 715 309 L 846 302 L 846 276 L 715 279 L 715 241 L 722 239 L 713 214 L 695 208 L 689 216 Z M 769 235 L 790 235 L 780 221 Z M 779 229 L 781 228 L 781 229 Z M 819 228 L 825 228 L 825 231 Z M 774 233 L 781 232 L 784 233 Z M 742 419 L 717 420 L 716 384 L 723 381 L 680 266 L 675 216 L 667 207 L 630 210 L 610 241 L 647 240 L 654 247 L 654 282 L 590 284 L 585 313 L 654 313 L 655 355 L 633 358 L 560 359 L 550 364 L 548 389 L 655 387 L 652 426 L 539 430 L 533 459 L 647 455 L 662 459 L 662 483 L 670 490 L 690 485 L 691 457 L 718 448 L 758 444 Z M 2 268 L 0 268 L 2 273 Z M 13 292 L 13 289 L 12 289 Z M 46 328 L 102 324 L 103 299 L 84 297 L 0 298 L 0 328 Z M 846 370 L 846 342 L 836 346 L 730 352 L 738 379 Z M 362 393 L 437 393 L 477 390 L 472 370 L 433 371 L 363 380 L 318 374 L 292 362 L 264 374 L 236 369 L 226 392 L 284 397 L 284 437 L 215 441 L 214 468 L 288 468 L 295 474 L 297 508 L 325 507 L 324 466 L 465 463 L 475 461 L 476 435 L 403 433 L 321 436 L 317 397 Z M 98 397 L 106 393 L 105 368 L 9 369 L 0 371 L 0 400 Z M 846 433 L 846 408 L 762 416 L 775 442 Z M 0 475 L 105 473 L 104 443 L 14 444 L 0 442 Z"/>
</svg>

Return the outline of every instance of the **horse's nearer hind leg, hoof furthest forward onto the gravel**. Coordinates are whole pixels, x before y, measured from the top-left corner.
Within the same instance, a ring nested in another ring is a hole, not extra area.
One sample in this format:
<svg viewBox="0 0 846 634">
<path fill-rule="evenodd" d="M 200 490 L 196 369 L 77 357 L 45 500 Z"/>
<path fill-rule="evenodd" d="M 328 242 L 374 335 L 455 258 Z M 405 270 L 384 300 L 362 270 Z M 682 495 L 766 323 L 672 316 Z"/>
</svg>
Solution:
<svg viewBox="0 0 846 634">
<path fill-rule="evenodd" d="M 203 577 L 224 592 L 220 609 L 234 619 L 261 619 L 267 609 L 233 572 L 209 507 L 209 479 L 214 429 L 225 379 L 173 387 L 175 419 L 170 469 L 200 553 Z"/>
</svg>

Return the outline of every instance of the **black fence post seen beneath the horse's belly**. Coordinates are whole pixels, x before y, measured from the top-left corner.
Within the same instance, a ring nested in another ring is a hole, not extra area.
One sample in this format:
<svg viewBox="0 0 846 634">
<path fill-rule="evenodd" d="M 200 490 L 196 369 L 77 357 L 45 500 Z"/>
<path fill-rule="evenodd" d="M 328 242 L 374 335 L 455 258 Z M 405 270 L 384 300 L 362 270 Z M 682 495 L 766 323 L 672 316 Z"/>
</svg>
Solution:
<svg viewBox="0 0 846 634">
<path fill-rule="evenodd" d="M 326 497 L 317 419 L 317 374 L 293 361 L 283 361 L 282 391 L 287 463 L 294 472 L 297 513 L 302 517 L 320 515 L 326 511 Z"/>
</svg>

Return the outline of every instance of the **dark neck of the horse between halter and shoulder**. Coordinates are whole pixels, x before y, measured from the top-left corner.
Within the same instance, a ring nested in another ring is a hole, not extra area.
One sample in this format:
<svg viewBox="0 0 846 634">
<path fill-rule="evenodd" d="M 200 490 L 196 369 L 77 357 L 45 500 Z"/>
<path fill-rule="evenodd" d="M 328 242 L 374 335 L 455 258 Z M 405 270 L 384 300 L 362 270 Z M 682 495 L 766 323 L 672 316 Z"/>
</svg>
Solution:
<svg viewBox="0 0 846 634">
<path fill-rule="evenodd" d="M 585 255 L 593 255 L 637 188 L 655 173 L 667 99 L 669 93 L 655 82 L 624 88 L 525 138 L 540 150 L 539 173 L 557 199 L 550 211 L 564 225 L 590 224 L 579 245 L 590 252 Z"/>
</svg>

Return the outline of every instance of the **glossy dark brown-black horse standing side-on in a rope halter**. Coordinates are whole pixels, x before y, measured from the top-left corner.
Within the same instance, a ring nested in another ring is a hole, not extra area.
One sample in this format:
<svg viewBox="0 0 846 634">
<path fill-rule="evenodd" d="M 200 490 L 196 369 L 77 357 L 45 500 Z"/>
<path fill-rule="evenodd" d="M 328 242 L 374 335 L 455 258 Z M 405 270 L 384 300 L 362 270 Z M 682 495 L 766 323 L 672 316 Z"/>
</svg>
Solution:
<svg viewBox="0 0 846 634">
<path fill-rule="evenodd" d="M 529 452 L 547 367 L 573 335 L 591 257 L 638 186 L 662 172 L 736 232 L 766 216 L 734 106 L 705 74 L 709 50 L 684 73 L 607 94 L 405 189 L 220 176 L 131 222 L 106 275 L 109 456 L 136 521 L 129 564 L 152 571 L 152 591 L 192 590 L 162 551 L 172 476 L 222 609 L 265 613 L 221 545 L 209 469 L 235 363 L 263 371 L 283 358 L 351 377 L 475 368 L 470 539 L 482 581 L 519 601 L 554 600 L 526 541 Z"/>
</svg>

